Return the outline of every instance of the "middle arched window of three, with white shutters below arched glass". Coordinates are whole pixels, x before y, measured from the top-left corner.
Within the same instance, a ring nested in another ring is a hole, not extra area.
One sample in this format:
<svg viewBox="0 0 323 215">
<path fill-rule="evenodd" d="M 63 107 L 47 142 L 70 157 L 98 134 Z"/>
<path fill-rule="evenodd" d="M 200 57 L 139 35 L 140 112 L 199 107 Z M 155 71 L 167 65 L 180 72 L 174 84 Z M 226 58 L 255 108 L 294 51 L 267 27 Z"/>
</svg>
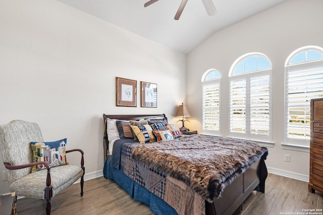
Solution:
<svg viewBox="0 0 323 215">
<path fill-rule="evenodd" d="M 272 63 L 262 53 L 248 53 L 231 66 L 231 137 L 272 141 Z"/>
</svg>

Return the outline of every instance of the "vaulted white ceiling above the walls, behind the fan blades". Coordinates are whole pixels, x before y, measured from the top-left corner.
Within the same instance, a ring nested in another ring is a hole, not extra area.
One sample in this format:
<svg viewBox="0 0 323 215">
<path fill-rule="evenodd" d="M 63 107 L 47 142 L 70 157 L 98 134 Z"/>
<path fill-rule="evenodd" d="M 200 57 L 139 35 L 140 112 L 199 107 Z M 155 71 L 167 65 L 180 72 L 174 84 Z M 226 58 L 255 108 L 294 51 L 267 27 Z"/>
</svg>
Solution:
<svg viewBox="0 0 323 215">
<path fill-rule="evenodd" d="M 188 53 L 214 32 L 287 0 L 213 0 L 218 11 L 208 16 L 202 0 L 189 0 L 179 20 L 182 0 L 58 0 L 169 48 Z M 291 0 L 290 0 L 291 1 Z"/>
</svg>

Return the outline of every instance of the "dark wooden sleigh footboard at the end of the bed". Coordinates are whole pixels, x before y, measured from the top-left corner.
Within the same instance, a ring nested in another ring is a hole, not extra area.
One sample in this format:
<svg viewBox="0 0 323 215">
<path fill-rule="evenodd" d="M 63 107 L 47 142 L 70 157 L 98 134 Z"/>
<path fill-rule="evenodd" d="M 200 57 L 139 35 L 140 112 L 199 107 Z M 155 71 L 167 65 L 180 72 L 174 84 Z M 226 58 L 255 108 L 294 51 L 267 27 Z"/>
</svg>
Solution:
<svg viewBox="0 0 323 215">
<path fill-rule="evenodd" d="M 267 168 L 264 163 L 266 155 L 251 165 L 244 173 L 225 187 L 221 197 L 214 198 L 213 203 L 205 202 L 206 215 L 232 214 L 253 190 L 264 193 L 264 184 L 267 177 Z"/>
</svg>

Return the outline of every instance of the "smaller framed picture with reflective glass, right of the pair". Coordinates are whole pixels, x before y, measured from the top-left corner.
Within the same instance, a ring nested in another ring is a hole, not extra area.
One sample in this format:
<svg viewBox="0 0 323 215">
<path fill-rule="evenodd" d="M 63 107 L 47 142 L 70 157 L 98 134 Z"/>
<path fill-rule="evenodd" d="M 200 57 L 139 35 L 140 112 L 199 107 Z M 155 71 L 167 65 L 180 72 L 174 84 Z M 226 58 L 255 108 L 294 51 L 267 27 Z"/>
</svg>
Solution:
<svg viewBox="0 0 323 215">
<path fill-rule="evenodd" d="M 140 82 L 141 107 L 157 107 L 157 84 Z"/>
</svg>

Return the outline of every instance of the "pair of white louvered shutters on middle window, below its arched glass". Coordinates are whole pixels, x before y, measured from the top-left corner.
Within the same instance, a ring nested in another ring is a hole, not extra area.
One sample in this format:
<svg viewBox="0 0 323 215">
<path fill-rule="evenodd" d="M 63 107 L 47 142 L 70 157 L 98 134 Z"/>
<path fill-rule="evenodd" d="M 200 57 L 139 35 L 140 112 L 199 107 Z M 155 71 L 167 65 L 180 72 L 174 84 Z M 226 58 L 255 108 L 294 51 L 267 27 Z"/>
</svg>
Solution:
<svg viewBox="0 0 323 215">
<path fill-rule="evenodd" d="M 230 136 L 271 141 L 271 70 L 230 78 Z"/>
</svg>

